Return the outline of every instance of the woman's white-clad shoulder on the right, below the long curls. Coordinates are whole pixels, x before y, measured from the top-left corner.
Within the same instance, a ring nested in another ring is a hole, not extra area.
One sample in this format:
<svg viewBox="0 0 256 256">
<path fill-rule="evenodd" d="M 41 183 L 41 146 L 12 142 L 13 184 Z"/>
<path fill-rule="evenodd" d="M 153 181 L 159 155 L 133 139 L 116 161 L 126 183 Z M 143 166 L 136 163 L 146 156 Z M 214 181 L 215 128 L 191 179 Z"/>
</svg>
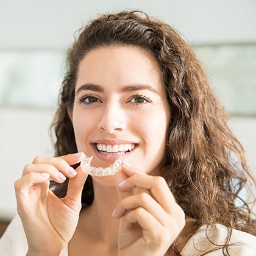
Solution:
<svg viewBox="0 0 256 256">
<path fill-rule="evenodd" d="M 202 226 L 190 238 L 181 254 L 183 256 L 196 256 L 216 249 L 226 243 L 227 235 L 229 235 L 229 229 L 220 224 L 214 228 Z M 233 229 L 229 244 L 229 255 L 256 255 L 256 237 L 249 233 Z M 207 255 L 222 255 L 222 250 L 218 249 Z"/>
</svg>

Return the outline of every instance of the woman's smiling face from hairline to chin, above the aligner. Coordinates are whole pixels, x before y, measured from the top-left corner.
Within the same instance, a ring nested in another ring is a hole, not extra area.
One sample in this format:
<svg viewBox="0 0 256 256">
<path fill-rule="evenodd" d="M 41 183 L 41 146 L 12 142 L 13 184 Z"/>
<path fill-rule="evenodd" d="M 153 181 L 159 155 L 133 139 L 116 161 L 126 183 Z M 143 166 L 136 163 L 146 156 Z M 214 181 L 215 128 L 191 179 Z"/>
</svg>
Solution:
<svg viewBox="0 0 256 256">
<path fill-rule="evenodd" d="M 71 119 L 77 149 L 93 155 L 91 166 L 123 157 L 158 174 L 169 110 L 154 57 L 128 46 L 89 52 L 79 65 Z"/>
</svg>

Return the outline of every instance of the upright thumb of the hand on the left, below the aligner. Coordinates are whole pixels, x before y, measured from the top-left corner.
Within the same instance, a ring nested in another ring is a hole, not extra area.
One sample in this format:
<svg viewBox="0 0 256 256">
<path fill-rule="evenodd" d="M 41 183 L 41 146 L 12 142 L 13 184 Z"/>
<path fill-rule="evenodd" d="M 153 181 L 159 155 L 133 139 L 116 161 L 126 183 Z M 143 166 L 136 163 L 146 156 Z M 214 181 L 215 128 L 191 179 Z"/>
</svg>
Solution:
<svg viewBox="0 0 256 256">
<path fill-rule="evenodd" d="M 69 179 L 68 190 L 63 202 L 74 210 L 80 210 L 82 190 L 88 174 L 77 167 L 77 176 Z"/>
</svg>

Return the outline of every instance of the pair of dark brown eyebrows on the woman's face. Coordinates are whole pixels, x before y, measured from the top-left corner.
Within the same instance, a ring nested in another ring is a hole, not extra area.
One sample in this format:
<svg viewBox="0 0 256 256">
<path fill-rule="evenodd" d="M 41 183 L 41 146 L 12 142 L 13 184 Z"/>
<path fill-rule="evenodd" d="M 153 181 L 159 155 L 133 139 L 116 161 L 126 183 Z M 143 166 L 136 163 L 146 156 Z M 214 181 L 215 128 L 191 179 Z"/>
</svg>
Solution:
<svg viewBox="0 0 256 256">
<path fill-rule="evenodd" d="M 80 91 L 83 91 L 83 90 L 98 91 L 99 93 L 104 93 L 104 88 L 101 87 L 101 85 L 85 84 L 85 85 L 81 85 L 77 89 L 76 94 L 79 93 Z M 158 93 L 158 91 L 155 90 L 155 88 L 151 87 L 148 84 L 126 85 L 123 88 L 121 88 L 121 93 L 127 93 L 127 92 L 132 92 L 132 91 L 140 91 L 140 90 L 149 90 L 149 91 L 152 91 L 153 93 L 156 93 L 160 96 L 160 93 Z"/>
</svg>

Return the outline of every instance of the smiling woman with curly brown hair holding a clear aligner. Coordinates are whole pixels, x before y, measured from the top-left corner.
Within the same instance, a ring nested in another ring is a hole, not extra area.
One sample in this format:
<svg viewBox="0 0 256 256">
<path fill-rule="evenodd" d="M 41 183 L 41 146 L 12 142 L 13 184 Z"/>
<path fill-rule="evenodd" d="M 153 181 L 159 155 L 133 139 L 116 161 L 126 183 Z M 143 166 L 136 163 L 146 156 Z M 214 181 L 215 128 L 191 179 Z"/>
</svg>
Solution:
<svg viewBox="0 0 256 256">
<path fill-rule="evenodd" d="M 251 208 L 240 198 L 255 182 L 243 148 L 201 64 L 167 24 L 120 12 L 85 26 L 68 51 L 53 127 L 55 157 L 36 157 L 15 183 L 23 228 L 15 218 L 5 251 L 255 254 Z M 82 152 L 95 168 L 121 157 L 121 170 L 88 176 Z M 15 240 L 12 229 L 26 235 Z"/>
</svg>

